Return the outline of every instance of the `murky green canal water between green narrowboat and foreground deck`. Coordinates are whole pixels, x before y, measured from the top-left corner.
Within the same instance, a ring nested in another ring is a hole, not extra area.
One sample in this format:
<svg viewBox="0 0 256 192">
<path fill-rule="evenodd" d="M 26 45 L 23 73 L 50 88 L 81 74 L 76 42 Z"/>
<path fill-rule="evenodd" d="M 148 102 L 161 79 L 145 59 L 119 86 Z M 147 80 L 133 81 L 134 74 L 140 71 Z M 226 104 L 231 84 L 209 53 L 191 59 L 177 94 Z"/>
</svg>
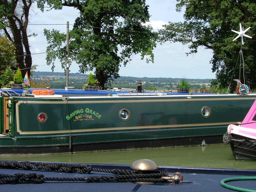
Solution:
<svg viewBox="0 0 256 192">
<path fill-rule="evenodd" d="M 5 161 L 44 161 L 130 165 L 138 159 L 150 159 L 159 166 L 250 169 L 256 170 L 256 161 L 237 161 L 230 145 L 155 148 L 85 152 L 65 155 L 2 156 Z"/>
</svg>

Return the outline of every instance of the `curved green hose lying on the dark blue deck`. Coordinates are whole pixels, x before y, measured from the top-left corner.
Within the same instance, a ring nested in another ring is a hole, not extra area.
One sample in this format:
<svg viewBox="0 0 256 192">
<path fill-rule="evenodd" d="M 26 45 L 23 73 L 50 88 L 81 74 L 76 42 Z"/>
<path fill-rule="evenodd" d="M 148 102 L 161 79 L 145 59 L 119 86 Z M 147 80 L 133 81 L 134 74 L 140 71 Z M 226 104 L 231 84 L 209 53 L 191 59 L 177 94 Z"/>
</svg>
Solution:
<svg viewBox="0 0 256 192">
<path fill-rule="evenodd" d="M 244 189 L 244 188 L 240 188 L 240 187 L 234 187 L 231 185 L 226 184 L 226 182 L 230 182 L 230 181 L 244 181 L 244 180 L 256 180 L 256 177 L 231 177 L 231 178 L 226 178 L 221 180 L 220 184 L 222 187 L 234 190 L 234 191 L 242 191 L 242 192 L 256 192 L 256 190 L 252 190 L 252 189 Z"/>
</svg>

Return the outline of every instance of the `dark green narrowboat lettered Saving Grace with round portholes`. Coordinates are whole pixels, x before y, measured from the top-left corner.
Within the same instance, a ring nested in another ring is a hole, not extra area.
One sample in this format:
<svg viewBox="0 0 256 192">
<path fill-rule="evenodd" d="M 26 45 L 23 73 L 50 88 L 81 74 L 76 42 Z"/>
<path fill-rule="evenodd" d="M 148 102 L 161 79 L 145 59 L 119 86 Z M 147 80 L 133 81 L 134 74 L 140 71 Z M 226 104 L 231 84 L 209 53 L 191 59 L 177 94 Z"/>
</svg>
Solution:
<svg viewBox="0 0 256 192">
<path fill-rule="evenodd" d="M 4 155 L 220 144 L 256 94 L 0 98 Z"/>
</svg>

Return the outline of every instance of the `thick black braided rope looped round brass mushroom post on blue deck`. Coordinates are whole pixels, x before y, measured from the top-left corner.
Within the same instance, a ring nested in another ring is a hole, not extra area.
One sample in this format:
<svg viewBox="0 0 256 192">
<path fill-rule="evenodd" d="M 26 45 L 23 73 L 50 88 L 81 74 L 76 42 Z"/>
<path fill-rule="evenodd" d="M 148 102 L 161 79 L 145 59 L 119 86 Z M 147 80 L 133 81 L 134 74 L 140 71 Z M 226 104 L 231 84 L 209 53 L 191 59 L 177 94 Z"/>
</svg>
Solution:
<svg viewBox="0 0 256 192">
<path fill-rule="evenodd" d="M 167 172 L 163 171 L 150 171 L 148 174 L 136 174 L 135 171 L 129 170 L 119 170 L 119 169 L 97 169 L 92 168 L 92 166 L 83 164 L 66 164 L 66 163 L 42 163 L 37 162 L 31 164 L 30 162 L 20 163 L 14 162 L 0 162 L 1 169 L 25 169 L 25 170 L 47 170 L 56 172 L 66 172 L 66 173 L 90 173 L 95 172 L 105 172 L 112 173 L 116 176 L 90 176 L 90 177 L 45 177 L 41 174 L 36 173 L 17 173 L 14 175 L 0 174 L 0 184 L 20 184 L 20 183 L 44 183 L 44 181 L 84 181 L 84 182 L 167 182 L 167 180 L 161 177 L 168 176 Z"/>
</svg>

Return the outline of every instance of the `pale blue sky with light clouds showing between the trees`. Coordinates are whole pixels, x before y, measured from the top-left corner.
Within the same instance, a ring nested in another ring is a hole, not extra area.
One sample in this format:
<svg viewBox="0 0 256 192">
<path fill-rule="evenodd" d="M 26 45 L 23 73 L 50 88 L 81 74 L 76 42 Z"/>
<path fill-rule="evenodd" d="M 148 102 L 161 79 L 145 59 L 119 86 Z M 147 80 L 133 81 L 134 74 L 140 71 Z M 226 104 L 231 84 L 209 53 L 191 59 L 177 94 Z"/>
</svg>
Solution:
<svg viewBox="0 0 256 192">
<path fill-rule="evenodd" d="M 176 3 L 176 0 L 146 0 L 151 15 L 150 24 L 154 31 L 162 29 L 162 25 L 168 24 L 168 21 L 184 21 L 184 12 L 176 12 L 175 10 Z M 33 55 L 33 65 L 38 65 L 36 71 L 51 71 L 51 66 L 47 66 L 45 60 L 46 53 L 44 52 L 46 52 L 47 41 L 43 30 L 55 29 L 66 33 L 67 21 L 69 21 L 69 29 L 71 30 L 74 20 L 79 17 L 79 11 L 72 7 L 63 7 L 62 10 L 50 10 L 42 13 L 35 5 L 31 13 L 31 25 L 28 27 L 28 33 L 37 33 L 36 37 L 29 38 L 31 53 L 35 54 Z M 186 56 L 187 52 L 189 52 L 188 45 L 182 45 L 179 42 L 166 42 L 162 45 L 158 43 L 153 50 L 154 63 L 146 63 L 146 59 L 141 60 L 140 55 L 135 55 L 126 67 L 122 65 L 119 74 L 120 76 L 133 77 L 215 79 L 215 73 L 212 73 L 210 64 L 211 50 L 199 47 L 198 53 L 189 56 Z M 69 70 L 70 73 L 79 72 L 78 64 L 72 62 Z M 54 72 L 65 72 L 59 61 L 55 62 Z"/>
</svg>

